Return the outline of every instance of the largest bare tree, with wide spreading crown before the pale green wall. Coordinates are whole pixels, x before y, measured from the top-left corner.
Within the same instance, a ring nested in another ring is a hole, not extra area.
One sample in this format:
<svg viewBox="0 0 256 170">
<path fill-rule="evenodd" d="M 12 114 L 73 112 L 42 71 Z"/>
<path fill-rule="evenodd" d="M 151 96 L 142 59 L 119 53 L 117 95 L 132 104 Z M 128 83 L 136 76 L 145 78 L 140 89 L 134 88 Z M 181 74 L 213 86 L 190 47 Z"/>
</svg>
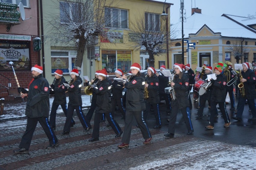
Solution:
<svg viewBox="0 0 256 170">
<path fill-rule="evenodd" d="M 54 10 L 59 9 L 60 13 L 49 14 L 47 29 L 51 33 L 47 37 L 51 43 L 74 47 L 77 51 L 74 67 L 81 68 L 85 47 L 88 44 L 97 44 L 98 36 L 107 35 L 106 27 L 110 24 L 110 19 L 105 17 L 105 8 L 110 7 L 112 2 L 52 0 L 52 3 Z"/>
</svg>

